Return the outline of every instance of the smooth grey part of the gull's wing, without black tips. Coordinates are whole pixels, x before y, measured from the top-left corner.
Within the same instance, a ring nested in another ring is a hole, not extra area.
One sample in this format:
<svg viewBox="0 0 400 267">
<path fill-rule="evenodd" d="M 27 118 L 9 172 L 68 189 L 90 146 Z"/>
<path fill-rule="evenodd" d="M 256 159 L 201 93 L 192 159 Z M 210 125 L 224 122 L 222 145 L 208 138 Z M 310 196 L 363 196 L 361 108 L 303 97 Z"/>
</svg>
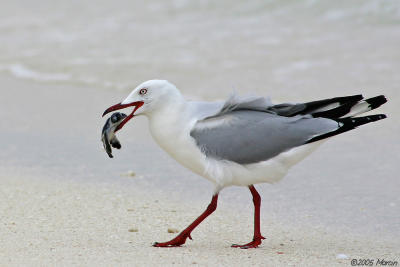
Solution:
<svg viewBox="0 0 400 267">
<path fill-rule="evenodd" d="M 198 121 L 190 135 L 209 157 L 250 164 L 268 160 L 338 128 L 338 122 L 325 118 L 237 110 Z"/>
</svg>

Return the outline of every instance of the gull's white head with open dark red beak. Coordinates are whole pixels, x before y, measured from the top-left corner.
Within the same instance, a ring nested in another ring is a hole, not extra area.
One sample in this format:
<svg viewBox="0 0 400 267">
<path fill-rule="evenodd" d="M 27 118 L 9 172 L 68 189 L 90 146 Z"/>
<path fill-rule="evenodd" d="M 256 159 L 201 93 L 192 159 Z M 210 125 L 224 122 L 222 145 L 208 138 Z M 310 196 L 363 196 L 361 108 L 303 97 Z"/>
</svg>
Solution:
<svg viewBox="0 0 400 267">
<path fill-rule="evenodd" d="M 133 89 L 124 101 L 106 109 L 103 116 L 115 110 L 134 107 L 132 113 L 117 127 L 118 131 L 134 116 L 149 114 L 173 103 L 179 97 L 181 94 L 172 83 L 166 80 L 149 80 Z"/>
</svg>

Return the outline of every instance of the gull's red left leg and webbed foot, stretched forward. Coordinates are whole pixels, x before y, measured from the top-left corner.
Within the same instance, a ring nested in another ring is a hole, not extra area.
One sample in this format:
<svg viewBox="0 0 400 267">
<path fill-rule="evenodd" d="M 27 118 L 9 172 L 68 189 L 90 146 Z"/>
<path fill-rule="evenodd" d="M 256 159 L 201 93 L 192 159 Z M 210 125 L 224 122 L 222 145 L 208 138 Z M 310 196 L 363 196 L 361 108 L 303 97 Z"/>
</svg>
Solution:
<svg viewBox="0 0 400 267">
<path fill-rule="evenodd" d="M 189 225 L 185 230 L 179 233 L 174 239 L 164 242 L 158 243 L 155 242 L 153 244 L 154 247 L 179 247 L 185 244 L 186 239 L 192 239 L 190 233 L 199 225 L 205 218 L 208 217 L 211 213 L 213 213 L 217 209 L 217 202 L 218 202 L 218 193 L 215 194 L 211 200 L 211 203 L 208 205 L 207 209 L 194 221 L 191 225 Z"/>
</svg>

